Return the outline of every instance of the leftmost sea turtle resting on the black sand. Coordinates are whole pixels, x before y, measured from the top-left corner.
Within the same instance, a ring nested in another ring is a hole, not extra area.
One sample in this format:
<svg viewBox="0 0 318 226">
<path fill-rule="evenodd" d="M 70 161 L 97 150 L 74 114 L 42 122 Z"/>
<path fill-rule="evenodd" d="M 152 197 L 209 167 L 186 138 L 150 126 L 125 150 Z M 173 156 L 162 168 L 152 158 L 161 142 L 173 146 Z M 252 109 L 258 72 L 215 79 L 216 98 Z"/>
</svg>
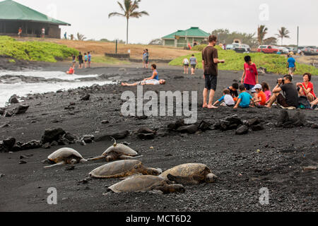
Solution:
<svg viewBox="0 0 318 226">
<path fill-rule="evenodd" d="M 72 148 L 61 148 L 51 155 L 47 157 L 47 160 L 42 161 L 43 163 L 50 163 L 54 165 L 47 166 L 48 167 L 54 167 L 57 165 L 65 165 L 65 164 L 76 164 L 80 162 L 87 162 L 83 156 L 78 153 L 76 150 Z"/>
</svg>

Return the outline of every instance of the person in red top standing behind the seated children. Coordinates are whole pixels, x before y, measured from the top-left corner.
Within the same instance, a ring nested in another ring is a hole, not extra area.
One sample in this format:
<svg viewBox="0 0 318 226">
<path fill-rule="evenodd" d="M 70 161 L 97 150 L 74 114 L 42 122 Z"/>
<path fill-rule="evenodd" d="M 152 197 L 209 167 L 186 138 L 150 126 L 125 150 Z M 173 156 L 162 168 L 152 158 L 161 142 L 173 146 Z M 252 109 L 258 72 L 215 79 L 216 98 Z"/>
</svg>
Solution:
<svg viewBox="0 0 318 226">
<path fill-rule="evenodd" d="M 250 56 L 246 56 L 244 60 L 244 73 L 241 83 L 245 85 L 246 90 L 252 90 L 254 86 L 259 83 L 259 73 L 257 72 L 256 64 L 252 62 Z"/>
</svg>

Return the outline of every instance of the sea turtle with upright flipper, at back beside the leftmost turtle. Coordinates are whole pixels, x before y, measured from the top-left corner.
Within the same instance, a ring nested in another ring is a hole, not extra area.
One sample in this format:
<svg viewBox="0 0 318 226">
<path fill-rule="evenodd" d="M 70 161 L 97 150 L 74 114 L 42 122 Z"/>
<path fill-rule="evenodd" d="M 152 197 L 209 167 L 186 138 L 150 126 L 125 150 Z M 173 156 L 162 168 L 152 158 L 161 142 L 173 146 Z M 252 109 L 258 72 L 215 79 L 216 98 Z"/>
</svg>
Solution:
<svg viewBox="0 0 318 226">
<path fill-rule="evenodd" d="M 105 150 L 105 152 L 102 153 L 102 155 L 98 157 L 90 158 L 88 160 L 89 161 L 102 160 L 105 158 L 106 162 L 111 162 L 111 161 L 119 160 L 119 159 L 131 160 L 136 157 L 142 157 L 142 156 L 138 156 L 138 153 L 135 150 L 132 150 L 131 148 L 129 148 L 128 146 L 122 143 L 117 144 L 116 141 L 114 141 L 114 145 L 112 145 L 110 148 Z"/>
</svg>

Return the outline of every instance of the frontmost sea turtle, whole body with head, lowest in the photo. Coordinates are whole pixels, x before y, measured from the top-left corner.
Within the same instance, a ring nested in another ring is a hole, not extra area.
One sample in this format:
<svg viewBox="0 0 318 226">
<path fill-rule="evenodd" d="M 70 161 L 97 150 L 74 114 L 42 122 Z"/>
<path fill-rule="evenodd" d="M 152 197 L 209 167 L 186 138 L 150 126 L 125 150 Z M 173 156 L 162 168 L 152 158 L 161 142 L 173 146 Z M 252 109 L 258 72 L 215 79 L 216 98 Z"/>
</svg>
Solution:
<svg viewBox="0 0 318 226">
<path fill-rule="evenodd" d="M 163 194 L 170 194 L 184 192 L 185 189 L 181 184 L 172 184 L 172 182 L 163 179 L 163 177 L 143 175 L 129 177 L 122 182 L 110 186 L 108 191 L 113 191 L 115 193 L 159 191 Z"/>
</svg>

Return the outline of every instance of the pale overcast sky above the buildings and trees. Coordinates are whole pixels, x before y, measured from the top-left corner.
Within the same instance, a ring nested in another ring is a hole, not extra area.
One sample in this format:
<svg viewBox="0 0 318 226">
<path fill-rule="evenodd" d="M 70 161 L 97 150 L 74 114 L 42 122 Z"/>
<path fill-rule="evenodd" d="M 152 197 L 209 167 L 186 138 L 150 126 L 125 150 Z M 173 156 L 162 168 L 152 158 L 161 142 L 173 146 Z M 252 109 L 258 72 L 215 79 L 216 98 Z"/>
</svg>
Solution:
<svg viewBox="0 0 318 226">
<path fill-rule="evenodd" d="M 125 18 L 108 18 L 109 13 L 119 12 L 115 0 L 16 1 L 71 23 L 71 27 L 61 26 L 62 34 L 80 32 L 89 39 L 126 40 Z M 253 33 L 257 32 L 257 25 L 264 24 L 269 28 L 266 37 L 278 33 L 282 26 L 290 31 L 290 39 L 284 39 L 283 44 L 297 43 L 297 26 L 300 26 L 300 45 L 318 45 L 317 0 L 142 0 L 140 10 L 150 16 L 130 20 L 129 42 L 132 43 L 148 44 L 155 38 L 190 27 L 206 32 L 228 28 Z"/>
</svg>

